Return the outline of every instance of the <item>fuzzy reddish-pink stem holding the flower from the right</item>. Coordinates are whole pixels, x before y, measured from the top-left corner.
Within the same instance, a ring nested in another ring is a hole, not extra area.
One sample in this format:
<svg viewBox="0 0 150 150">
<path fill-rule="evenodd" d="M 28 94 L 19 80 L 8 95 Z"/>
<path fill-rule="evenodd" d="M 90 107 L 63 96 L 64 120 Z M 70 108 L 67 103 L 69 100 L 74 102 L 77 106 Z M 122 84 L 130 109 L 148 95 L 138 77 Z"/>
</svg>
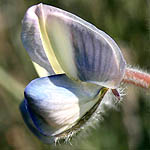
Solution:
<svg viewBox="0 0 150 150">
<path fill-rule="evenodd" d="M 126 68 L 123 82 L 143 88 L 150 88 L 150 74 L 133 68 Z"/>
</svg>

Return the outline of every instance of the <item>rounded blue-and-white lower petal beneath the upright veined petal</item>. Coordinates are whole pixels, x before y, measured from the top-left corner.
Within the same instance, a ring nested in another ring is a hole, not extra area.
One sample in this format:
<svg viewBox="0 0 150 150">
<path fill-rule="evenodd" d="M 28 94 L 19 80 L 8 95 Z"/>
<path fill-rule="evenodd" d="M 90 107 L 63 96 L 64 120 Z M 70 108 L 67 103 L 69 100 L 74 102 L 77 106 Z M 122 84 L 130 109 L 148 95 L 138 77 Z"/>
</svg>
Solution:
<svg viewBox="0 0 150 150">
<path fill-rule="evenodd" d="M 25 99 L 39 132 L 56 136 L 77 124 L 98 102 L 101 89 L 55 75 L 33 80 L 25 89 Z"/>
</svg>

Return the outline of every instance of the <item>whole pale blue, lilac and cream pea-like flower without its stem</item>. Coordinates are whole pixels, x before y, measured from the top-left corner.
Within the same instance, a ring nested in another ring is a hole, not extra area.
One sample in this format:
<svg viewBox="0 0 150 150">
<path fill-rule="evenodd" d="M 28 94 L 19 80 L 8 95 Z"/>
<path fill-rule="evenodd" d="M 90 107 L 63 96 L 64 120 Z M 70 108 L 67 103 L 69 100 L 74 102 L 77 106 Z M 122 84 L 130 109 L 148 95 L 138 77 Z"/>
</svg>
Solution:
<svg viewBox="0 0 150 150">
<path fill-rule="evenodd" d="M 48 75 L 27 85 L 20 105 L 43 142 L 66 139 L 90 125 L 102 101 L 118 96 L 126 62 L 114 40 L 92 24 L 38 4 L 25 14 L 21 38 L 37 71 L 42 67 Z"/>
</svg>

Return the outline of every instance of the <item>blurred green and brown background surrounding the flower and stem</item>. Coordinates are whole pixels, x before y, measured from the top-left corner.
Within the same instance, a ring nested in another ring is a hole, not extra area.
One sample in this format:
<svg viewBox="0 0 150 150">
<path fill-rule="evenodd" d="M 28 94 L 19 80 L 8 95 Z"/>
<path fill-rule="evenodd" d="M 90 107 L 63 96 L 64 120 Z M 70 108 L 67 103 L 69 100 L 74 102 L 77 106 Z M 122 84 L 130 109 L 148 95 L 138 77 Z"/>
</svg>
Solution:
<svg viewBox="0 0 150 150">
<path fill-rule="evenodd" d="M 149 150 L 150 91 L 127 86 L 120 111 L 109 110 L 87 138 L 51 146 L 25 126 L 18 106 L 37 74 L 20 40 L 28 7 L 50 4 L 91 22 L 115 39 L 127 62 L 150 72 L 149 0 L 0 0 L 0 150 Z"/>
</svg>

